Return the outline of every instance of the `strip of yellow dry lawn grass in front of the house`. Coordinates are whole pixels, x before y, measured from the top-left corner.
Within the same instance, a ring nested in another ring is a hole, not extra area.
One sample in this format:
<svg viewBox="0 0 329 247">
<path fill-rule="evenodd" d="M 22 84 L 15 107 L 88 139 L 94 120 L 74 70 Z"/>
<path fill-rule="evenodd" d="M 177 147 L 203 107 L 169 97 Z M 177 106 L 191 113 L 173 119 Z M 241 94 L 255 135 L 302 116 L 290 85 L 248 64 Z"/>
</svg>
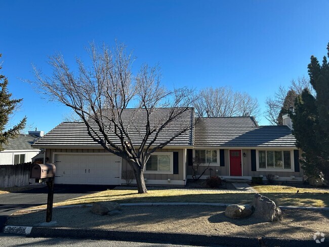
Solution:
<svg viewBox="0 0 329 247">
<path fill-rule="evenodd" d="M 264 188 L 263 188 L 264 187 Z M 315 192 L 294 193 L 294 189 L 279 189 L 277 192 L 268 192 L 266 186 L 257 186 L 256 189 L 265 196 L 274 200 L 278 205 L 298 207 L 329 207 L 329 193 L 322 190 Z M 282 186 L 284 187 L 284 186 Z M 286 187 L 286 186 L 285 186 Z M 271 188 L 275 190 L 274 187 Z M 118 203 L 133 202 L 215 202 L 252 204 L 253 193 L 236 193 L 232 191 L 196 191 L 179 189 L 152 189 L 146 194 L 138 194 L 136 190 L 114 189 L 89 194 L 63 202 L 54 203 L 54 206 L 90 204 L 97 201 L 115 201 Z M 40 206 L 38 208 L 44 208 Z"/>
</svg>

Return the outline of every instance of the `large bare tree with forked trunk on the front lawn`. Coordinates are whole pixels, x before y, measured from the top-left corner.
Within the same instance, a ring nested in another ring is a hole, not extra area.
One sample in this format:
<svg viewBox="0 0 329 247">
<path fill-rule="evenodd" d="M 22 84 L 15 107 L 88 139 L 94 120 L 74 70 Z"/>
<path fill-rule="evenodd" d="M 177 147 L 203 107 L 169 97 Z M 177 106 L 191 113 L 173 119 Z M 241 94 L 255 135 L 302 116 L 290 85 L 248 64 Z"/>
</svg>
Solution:
<svg viewBox="0 0 329 247">
<path fill-rule="evenodd" d="M 125 159 L 134 171 L 138 192 L 146 193 L 143 173 L 151 153 L 193 127 L 183 121 L 193 114 L 189 108 L 195 100 L 193 90 L 163 87 L 158 66 L 142 65 L 134 76 L 132 53 L 127 54 L 122 44 L 113 49 L 91 44 L 88 52 L 90 65 L 76 59 L 75 72 L 61 55 L 51 57 L 53 74 L 44 76 L 34 67 L 33 83 L 49 99 L 70 107 L 95 142 Z"/>
</svg>

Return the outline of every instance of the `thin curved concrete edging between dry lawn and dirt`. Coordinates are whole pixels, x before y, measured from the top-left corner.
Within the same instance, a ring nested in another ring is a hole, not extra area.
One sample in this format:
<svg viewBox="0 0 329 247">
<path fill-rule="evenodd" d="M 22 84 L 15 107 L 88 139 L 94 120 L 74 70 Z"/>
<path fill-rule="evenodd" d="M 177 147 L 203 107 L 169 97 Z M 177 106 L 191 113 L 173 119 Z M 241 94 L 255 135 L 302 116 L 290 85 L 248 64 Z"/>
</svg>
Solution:
<svg viewBox="0 0 329 247">
<path fill-rule="evenodd" d="M 131 207 L 131 206 L 216 206 L 216 207 L 227 207 L 232 203 L 211 203 L 211 202 L 138 202 L 138 203 L 119 203 L 120 206 L 123 207 Z M 55 207 L 57 209 L 67 209 L 67 208 L 83 208 L 83 207 L 92 207 L 93 204 L 76 204 L 76 205 L 67 205 L 67 206 L 58 206 Z M 249 205 L 249 204 L 246 204 Z M 245 205 L 242 205 L 245 206 Z M 310 211 L 329 211 L 329 208 L 323 207 L 295 207 L 295 206 L 279 206 L 281 210 L 310 210 Z M 45 210 L 42 209 L 28 209 L 21 211 L 38 211 Z"/>
</svg>

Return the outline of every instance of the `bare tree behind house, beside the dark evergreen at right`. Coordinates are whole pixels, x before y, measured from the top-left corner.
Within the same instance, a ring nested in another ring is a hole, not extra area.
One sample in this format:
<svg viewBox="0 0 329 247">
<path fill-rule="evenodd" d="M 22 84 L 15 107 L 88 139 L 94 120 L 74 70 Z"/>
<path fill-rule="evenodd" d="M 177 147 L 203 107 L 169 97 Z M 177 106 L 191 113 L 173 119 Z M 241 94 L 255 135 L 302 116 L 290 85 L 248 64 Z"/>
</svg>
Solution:
<svg viewBox="0 0 329 247">
<path fill-rule="evenodd" d="M 294 106 L 296 97 L 287 99 L 288 93 L 294 91 L 297 95 L 300 95 L 305 88 L 314 95 L 314 89 L 312 88 L 309 79 L 305 76 L 298 77 L 297 80 L 293 79 L 291 81 L 291 85 L 288 89 L 280 86 L 278 91 L 274 93 L 274 97 L 266 98 L 266 111 L 264 112 L 264 115 L 271 125 L 282 125 L 282 116 L 280 114 L 282 107 L 286 107 L 287 104 L 289 104 L 289 106 Z"/>
</svg>

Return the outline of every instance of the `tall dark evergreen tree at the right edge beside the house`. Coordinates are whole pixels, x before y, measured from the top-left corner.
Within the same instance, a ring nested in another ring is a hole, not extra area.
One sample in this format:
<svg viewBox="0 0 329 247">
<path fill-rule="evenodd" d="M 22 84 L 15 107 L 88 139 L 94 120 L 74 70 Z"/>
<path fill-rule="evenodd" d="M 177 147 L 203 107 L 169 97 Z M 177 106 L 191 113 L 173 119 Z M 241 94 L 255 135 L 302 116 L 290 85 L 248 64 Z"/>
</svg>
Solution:
<svg viewBox="0 0 329 247">
<path fill-rule="evenodd" d="M 327 46 L 329 57 L 329 43 Z M 310 176 L 324 176 L 329 180 L 329 66 L 324 56 L 322 65 L 311 57 L 308 65 L 310 83 L 316 92 L 313 97 L 304 90 L 296 102 L 294 135 L 297 147 L 303 150 L 302 167 Z"/>
</svg>

